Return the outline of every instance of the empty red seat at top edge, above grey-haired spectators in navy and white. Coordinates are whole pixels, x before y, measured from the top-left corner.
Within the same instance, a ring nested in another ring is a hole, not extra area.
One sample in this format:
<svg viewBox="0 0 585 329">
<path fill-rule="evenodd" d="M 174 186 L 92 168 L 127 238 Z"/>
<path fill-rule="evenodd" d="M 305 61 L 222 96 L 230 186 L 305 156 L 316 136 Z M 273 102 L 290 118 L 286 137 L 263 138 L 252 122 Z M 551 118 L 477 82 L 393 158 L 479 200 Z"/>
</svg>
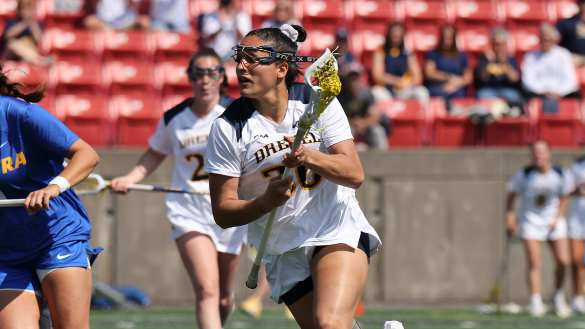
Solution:
<svg viewBox="0 0 585 329">
<path fill-rule="evenodd" d="M 548 1 L 504 0 L 502 8 L 508 23 L 518 21 L 546 22 L 549 19 Z"/>
</svg>

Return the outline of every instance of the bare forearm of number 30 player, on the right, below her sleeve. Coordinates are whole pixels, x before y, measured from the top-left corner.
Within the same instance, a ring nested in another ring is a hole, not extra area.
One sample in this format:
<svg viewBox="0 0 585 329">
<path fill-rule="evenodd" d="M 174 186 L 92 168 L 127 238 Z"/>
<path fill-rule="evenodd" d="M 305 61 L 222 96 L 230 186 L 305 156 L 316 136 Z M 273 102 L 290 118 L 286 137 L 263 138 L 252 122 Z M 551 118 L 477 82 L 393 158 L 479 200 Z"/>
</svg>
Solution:
<svg viewBox="0 0 585 329">
<path fill-rule="evenodd" d="M 309 152 L 308 163 L 305 167 L 312 172 L 318 173 L 321 177 L 341 186 L 359 189 L 364 180 L 362 166 L 355 163 L 345 154 L 328 155 L 315 149 L 306 149 Z"/>
</svg>

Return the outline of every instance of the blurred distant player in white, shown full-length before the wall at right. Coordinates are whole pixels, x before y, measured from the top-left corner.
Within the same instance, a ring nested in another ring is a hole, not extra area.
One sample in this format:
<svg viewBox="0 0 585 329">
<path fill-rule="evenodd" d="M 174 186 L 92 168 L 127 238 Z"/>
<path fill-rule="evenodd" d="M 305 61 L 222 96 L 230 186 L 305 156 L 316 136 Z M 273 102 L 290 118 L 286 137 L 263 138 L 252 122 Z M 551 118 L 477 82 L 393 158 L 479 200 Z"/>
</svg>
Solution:
<svg viewBox="0 0 585 329">
<path fill-rule="evenodd" d="M 519 169 L 508 185 L 506 225 L 508 232 L 524 239 L 528 254 L 528 284 L 531 293 L 530 312 L 541 317 L 545 307 L 541 296 L 541 242 L 547 241 L 555 257 L 555 293 L 553 302 L 560 317 L 570 314 L 565 294 L 560 290 L 569 265 L 569 243 L 565 212 L 573 191 L 569 173 L 551 162 L 550 146 L 544 140 L 531 145 L 532 165 Z M 518 224 L 514 200 L 522 196 Z"/>
</svg>

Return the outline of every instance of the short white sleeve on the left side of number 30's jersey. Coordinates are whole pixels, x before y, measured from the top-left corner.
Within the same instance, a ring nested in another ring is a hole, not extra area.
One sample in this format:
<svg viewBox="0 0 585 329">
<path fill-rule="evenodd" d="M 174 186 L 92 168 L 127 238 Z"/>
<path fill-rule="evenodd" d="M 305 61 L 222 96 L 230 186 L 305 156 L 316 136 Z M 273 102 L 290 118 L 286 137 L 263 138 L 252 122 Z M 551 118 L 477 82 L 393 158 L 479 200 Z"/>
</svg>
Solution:
<svg viewBox="0 0 585 329">
<path fill-rule="evenodd" d="M 242 176 L 242 160 L 237 148 L 238 140 L 233 126 L 222 118 L 215 119 L 207 140 L 205 172 L 230 177 Z"/>
</svg>

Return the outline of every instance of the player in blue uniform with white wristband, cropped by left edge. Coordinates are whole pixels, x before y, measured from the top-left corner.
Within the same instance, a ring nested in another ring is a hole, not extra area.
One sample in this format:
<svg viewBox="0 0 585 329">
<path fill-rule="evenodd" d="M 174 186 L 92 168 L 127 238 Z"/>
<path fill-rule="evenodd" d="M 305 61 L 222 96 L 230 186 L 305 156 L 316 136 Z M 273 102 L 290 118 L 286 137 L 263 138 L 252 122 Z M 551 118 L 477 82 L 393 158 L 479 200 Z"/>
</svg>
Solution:
<svg viewBox="0 0 585 329">
<path fill-rule="evenodd" d="M 90 328 L 91 223 L 71 186 L 99 162 L 91 146 L 42 107 L 0 66 L 0 328 L 39 328 L 43 296 L 57 329 Z M 19 99 L 17 99 L 19 98 Z M 70 159 L 63 168 L 63 159 Z"/>
</svg>

